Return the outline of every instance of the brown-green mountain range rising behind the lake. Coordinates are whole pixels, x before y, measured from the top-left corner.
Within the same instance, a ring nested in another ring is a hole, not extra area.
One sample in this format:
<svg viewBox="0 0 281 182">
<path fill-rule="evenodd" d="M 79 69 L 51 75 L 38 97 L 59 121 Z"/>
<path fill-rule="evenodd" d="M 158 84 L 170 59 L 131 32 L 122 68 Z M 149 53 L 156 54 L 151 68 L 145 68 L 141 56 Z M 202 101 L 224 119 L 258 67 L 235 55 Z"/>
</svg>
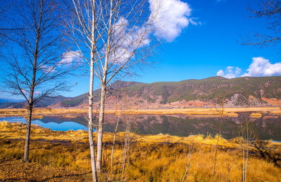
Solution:
<svg viewBox="0 0 281 182">
<path fill-rule="evenodd" d="M 94 102 L 98 103 L 100 89 L 94 91 L 94 96 L 96 96 Z M 212 107 L 219 105 L 222 100 L 226 101 L 224 107 L 280 106 L 281 76 L 233 79 L 216 76 L 200 80 L 154 83 L 116 81 L 108 86 L 106 108 Z M 87 108 L 87 106 L 86 93 L 74 98 L 66 98 L 48 107 Z"/>
</svg>

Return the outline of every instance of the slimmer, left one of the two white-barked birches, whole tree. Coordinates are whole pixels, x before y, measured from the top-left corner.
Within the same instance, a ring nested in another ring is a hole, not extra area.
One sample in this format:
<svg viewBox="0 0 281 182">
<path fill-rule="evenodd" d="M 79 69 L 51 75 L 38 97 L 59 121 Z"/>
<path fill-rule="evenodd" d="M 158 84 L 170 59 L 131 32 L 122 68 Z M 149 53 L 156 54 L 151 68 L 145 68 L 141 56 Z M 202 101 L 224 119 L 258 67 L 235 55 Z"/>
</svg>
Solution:
<svg viewBox="0 0 281 182">
<path fill-rule="evenodd" d="M 67 10 L 65 27 L 66 34 L 72 40 L 77 51 L 90 66 L 90 87 L 89 87 L 89 112 L 88 112 L 88 133 L 91 153 L 91 166 L 93 181 L 98 181 L 96 170 L 95 149 L 93 141 L 93 89 L 94 89 L 94 64 L 96 63 L 97 51 L 97 25 L 100 20 L 101 7 L 97 8 L 95 0 L 70 0 L 64 2 Z"/>
</svg>

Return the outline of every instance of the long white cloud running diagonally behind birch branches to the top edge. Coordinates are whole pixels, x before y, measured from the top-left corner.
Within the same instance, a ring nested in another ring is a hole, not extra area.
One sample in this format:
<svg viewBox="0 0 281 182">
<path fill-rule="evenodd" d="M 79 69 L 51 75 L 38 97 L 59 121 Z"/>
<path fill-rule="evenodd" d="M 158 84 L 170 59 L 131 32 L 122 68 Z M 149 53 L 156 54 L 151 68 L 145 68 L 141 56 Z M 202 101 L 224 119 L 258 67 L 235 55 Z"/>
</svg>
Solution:
<svg viewBox="0 0 281 182">
<path fill-rule="evenodd" d="M 180 0 L 149 0 L 150 19 L 148 24 L 152 27 L 144 26 L 130 27 L 130 22 L 121 17 L 114 26 L 113 49 L 110 52 L 110 62 L 114 64 L 123 64 L 131 58 L 135 58 L 137 48 L 146 47 L 151 40 L 149 35 L 154 33 L 156 36 L 166 38 L 172 42 L 180 35 L 183 28 L 187 27 L 189 22 L 193 25 L 200 25 L 196 18 L 189 18 L 191 8 L 187 3 Z M 160 9 L 159 9 L 160 6 Z M 151 21 L 151 22 L 150 22 Z M 105 52 L 105 50 L 103 50 Z M 66 55 L 65 62 L 71 62 Z M 70 56 L 71 58 L 71 56 Z"/>
</svg>

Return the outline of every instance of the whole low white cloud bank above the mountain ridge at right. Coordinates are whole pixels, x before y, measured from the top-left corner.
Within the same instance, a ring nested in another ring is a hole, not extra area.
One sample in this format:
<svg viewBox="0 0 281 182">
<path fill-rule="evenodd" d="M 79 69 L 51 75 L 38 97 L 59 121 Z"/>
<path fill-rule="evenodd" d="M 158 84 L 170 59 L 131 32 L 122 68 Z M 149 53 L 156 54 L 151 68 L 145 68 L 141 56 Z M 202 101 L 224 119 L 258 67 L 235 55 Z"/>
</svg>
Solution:
<svg viewBox="0 0 281 182">
<path fill-rule="evenodd" d="M 228 66 L 223 70 L 219 70 L 217 72 L 217 76 L 222 76 L 225 78 L 236 78 L 242 76 L 273 76 L 273 75 L 281 75 L 281 63 L 271 64 L 269 60 L 264 59 L 263 57 L 254 57 L 253 61 L 249 68 L 247 69 L 247 73 L 242 73 L 241 69 L 238 67 Z"/>
</svg>

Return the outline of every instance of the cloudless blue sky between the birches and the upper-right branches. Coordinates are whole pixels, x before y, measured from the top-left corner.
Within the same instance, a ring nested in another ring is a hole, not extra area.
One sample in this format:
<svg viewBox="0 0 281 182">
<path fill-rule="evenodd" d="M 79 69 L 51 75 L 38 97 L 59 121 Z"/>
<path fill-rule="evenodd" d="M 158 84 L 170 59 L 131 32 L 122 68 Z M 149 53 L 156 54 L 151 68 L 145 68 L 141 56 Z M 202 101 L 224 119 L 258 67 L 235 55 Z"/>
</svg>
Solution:
<svg viewBox="0 0 281 182">
<path fill-rule="evenodd" d="M 202 25 L 185 27 L 173 42 L 165 43 L 159 54 L 161 63 L 150 70 L 141 82 L 180 81 L 216 76 L 228 66 L 239 67 L 245 73 L 252 58 L 263 57 L 270 63 L 280 62 L 279 49 L 257 49 L 237 43 L 239 35 L 267 32 L 264 19 L 249 19 L 247 7 L 257 7 L 257 1 L 187 1 L 192 17 Z"/>
</svg>

